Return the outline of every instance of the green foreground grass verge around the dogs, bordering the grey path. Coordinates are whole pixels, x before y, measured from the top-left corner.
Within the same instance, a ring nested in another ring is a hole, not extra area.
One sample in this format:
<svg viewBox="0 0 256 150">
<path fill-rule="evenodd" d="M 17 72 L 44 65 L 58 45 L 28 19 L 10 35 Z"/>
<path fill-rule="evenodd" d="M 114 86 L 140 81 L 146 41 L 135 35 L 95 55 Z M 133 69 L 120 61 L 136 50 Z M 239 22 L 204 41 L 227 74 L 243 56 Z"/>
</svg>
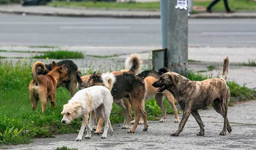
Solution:
<svg viewBox="0 0 256 150">
<path fill-rule="evenodd" d="M 22 61 L 12 65 L 11 61 L 0 61 L 1 144 L 26 144 L 30 143 L 32 138 L 51 138 L 56 134 L 76 133 L 80 129 L 82 118 L 75 119 L 69 125 L 60 122 L 62 107 L 70 99 L 69 92 L 65 88 L 57 89 L 57 105 L 54 108 L 50 108 L 48 104 L 42 114 L 39 102 L 35 111 L 31 109 L 28 94 L 28 85 L 32 80 L 31 64 L 32 62 L 27 64 Z M 211 76 L 190 71 L 188 78 L 201 81 Z M 239 97 L 240 100 L 255 97 L 254 90 L 239 86 L 235 82 L 227 82 L 227 84 L 233 97 Z M 164 100 L 164 106 L 167 113 L 173 113 L 168 101 Z M 145 109 L 148 120 L 159 120 L 157 117 L 162 115 L 154 98 L 146 101 Z M 113 124 L 124 121 L 123 110 L 116 104 L 113 104 L 110 120 Z"/>
</svg>

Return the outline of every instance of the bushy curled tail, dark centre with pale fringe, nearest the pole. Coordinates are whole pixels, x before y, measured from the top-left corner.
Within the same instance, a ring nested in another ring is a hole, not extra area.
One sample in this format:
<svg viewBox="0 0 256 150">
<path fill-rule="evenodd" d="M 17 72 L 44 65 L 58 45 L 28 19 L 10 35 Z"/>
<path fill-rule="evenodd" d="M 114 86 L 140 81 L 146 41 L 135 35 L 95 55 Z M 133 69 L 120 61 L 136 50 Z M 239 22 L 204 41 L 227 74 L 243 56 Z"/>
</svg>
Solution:
<svg viewBox="0 0 256 150">
<path fill-rule="evenodd" d="M 132 74 L 138 74 L 141 71 L 142 60 L 138 54 L 131 54 L 125 60 L 125 69 Z"/>
</svg>

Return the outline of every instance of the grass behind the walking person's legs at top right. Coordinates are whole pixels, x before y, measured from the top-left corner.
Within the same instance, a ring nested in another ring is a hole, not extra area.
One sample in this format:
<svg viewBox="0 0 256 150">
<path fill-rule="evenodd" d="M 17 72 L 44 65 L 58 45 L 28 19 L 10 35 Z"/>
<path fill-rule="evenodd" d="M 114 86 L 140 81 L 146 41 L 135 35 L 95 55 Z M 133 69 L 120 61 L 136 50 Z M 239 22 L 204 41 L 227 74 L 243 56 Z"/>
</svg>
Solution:
<svg viewBox="0 0 256 150">
<path fill-rule="evenodd" d="M 212 2 L 212 0 L 208 0 L 208 1 L 194 1 L 194 5 L 198 5 L 198 6 L 203 6 L 203 7 L 208 7 L 208 5 Z M 256 2 L 253 1 L 249 1 L 247 2 L 246 0 L 232 0 L 232 1 L 228 1 L 228 5 L 230 7 L 231 10 L 234 11 L 255 11 L 256 10 Z M 222 1 L 220 1 L 219 3 L 217 3 L 216 5 L 214 5 L 212 7 L 213 11 L 226 11 L 224 4 Z"/>
</svg>

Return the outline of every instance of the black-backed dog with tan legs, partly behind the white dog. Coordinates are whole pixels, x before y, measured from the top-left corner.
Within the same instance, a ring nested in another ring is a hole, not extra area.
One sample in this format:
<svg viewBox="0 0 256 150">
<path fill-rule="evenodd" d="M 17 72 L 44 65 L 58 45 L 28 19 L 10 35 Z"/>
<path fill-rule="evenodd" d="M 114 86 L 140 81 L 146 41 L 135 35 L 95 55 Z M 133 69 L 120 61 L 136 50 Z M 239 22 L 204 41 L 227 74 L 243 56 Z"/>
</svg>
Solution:
<svg viewBox="0 0 256 150">
<path fill-rule="evenodd" d="M 143 117 L 144 120 L 144 129 L 143 131 L 148 130 L 148 121 L 147 121 L 147 113 L 142 107 L 143 101 L 145 101 L 145 96 L 147 93 L 147 88 L 143 78 L 135 75 L 129 74 L 127 72 L 122 72 L 123 75 L 116 76 L 116 82 L 112 88 L 112 96 L 113 101 L 115 103 L 120 103 L 123 98 L 129 97 L 129 102 L 133 106 L 134 110 L 134 125 L 128 133 L 134 133 L 138 124 L 139 124 L 139 114 Z M 88 80 L 87 86 L 96 86 L 96 85 L 103 85 L 103 81 L 100 78 L 101 74 L 93 74 L 92 77 Z M 126 108 L 127 109 L 127 108 Z M 131 118 L 128 119 L 128 122 L 131 121 Z M 102 119 L 100 118 L 98 127 L 96 132 L 100 132 L 102 127 Z M 123 129 L 128 129 L 129 126 L 124 125 Z"/>
</svg>

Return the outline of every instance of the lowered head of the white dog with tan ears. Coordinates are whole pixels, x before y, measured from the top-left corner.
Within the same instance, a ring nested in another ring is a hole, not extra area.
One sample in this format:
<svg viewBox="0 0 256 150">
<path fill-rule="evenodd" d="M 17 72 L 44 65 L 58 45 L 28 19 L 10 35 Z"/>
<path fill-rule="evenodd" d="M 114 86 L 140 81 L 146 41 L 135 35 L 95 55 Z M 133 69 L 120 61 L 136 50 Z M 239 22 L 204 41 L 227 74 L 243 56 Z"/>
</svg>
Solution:
<svg viewBox="0 0 256 150">
<path fill-rule="evenodd" d="M 79 102 L 72 102 L 71 104 L 63 105 L 63 110 L 61 114 L 63 118 L 61 119 L 62 124 L 70 124 L 73 119 L 81 116 L 81 105 Z"/>
</svg>

